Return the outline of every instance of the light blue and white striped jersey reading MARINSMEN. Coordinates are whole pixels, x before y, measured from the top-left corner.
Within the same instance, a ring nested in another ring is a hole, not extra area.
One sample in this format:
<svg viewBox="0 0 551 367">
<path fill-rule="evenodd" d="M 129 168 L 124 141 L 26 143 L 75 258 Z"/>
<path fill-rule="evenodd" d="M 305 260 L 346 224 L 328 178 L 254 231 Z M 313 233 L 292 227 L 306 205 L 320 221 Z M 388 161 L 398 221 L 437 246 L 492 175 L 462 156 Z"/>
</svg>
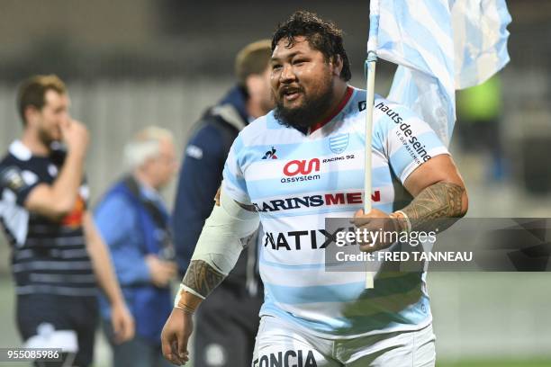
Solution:
<svg viewBox="0 0 551 367">
<path fill-rule="evenodd" d="M 325 218 L 363 208 L 366 92 L 348 87 L 339 112 L 309 133 L 285 127 L 274 112 L 239 133 L 224 167 L 222 190 L 256 206 L 264 236 L 260 315 L 284 318 L 328 337 L 419 329 L 431 321 L 424 273 L 375 279 L 325 271 L 331 234 Z M 375 98 L 373 207 L 387 213 L 411 196 L 402 183 L 430 157 L 447 154 L 433 130 L 407 108 Z"/>
</svg>

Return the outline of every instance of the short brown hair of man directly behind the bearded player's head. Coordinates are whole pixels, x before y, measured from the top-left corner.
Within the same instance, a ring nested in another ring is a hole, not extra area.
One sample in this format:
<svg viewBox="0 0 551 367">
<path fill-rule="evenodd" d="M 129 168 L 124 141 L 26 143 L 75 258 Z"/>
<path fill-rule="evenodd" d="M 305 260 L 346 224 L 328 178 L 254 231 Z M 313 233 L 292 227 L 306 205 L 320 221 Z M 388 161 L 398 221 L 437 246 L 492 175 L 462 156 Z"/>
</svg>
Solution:
<svg viewBox="0 0 551 367">
<path fill-rule="evenodd" d="M 272 57 L 270 40 L 257 40 L 239 50 L 235 57 L 235 76 L 241 87 L 247 86 L 247 78 L 266 71 Z"/>
</svg>

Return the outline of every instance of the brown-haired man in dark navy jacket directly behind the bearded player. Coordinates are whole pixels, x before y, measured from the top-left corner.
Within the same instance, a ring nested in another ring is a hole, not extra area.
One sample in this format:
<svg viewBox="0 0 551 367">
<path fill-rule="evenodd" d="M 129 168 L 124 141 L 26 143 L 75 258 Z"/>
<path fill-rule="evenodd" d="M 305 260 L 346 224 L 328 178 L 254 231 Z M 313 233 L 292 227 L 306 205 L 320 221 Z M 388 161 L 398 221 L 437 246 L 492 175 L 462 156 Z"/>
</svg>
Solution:
<svg viewBox="0 0 551 367">
<path fill-rule="evenodd" d="M 269 40 L 241 49 L 235 60 L 238 84 L 204 113 L 185 148 L 174 211 L 179 269 L 185 273 L 204 220 L 220 187 L 224 162 L 239 130 L 269 112 L 274 102 L 269 84 Z M 276 152 L 266 152 L 274 158 Z M 255 244 L 255 239 L 252 239 Z M 258 310 L 264 292 L 257 273 L 257 246 L 248 246 L 221 287 L 197 314 L 194 363 L 203 366 L 248 366 L 251 363 Z"/>
</svg>

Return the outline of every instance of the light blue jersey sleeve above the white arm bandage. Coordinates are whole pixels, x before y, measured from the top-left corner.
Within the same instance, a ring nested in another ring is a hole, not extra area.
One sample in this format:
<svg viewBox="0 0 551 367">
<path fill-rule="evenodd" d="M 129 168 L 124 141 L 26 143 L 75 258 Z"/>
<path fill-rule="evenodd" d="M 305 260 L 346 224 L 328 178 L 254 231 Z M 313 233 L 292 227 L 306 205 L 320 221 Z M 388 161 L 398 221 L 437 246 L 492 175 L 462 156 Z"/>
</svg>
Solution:
<svg viewBox="0 0 551 367">
<path fill-rule="evenodd" d="M 230 148 L 230 154 L 224 165 L 222 190 L 230 197 L 243 204 L 250 204 L 250 197 L 247 192 L 247 183 L 241 169 L 241 159 L 243 157 L 245 145 L 239 135 Z"/>
</svg>

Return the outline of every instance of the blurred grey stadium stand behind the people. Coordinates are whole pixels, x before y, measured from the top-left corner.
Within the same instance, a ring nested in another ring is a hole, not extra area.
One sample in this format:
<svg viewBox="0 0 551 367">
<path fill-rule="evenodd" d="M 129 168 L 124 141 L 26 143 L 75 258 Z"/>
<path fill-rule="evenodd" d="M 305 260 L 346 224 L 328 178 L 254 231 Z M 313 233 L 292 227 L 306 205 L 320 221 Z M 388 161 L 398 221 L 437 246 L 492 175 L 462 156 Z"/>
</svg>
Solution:
<svg viewBox="0 0 551 367">
<path fill-rule="evenodd" d="M 452 148 L 470 192 L 469 216 L 549 217 L 551 2 L 508 4 L 513 23 L 511 62 L 502 73 L 502 139 L 511 175 L 488 183 L 486 157 Z M 181 152 L 194 121 L 232 83 L 235 50 L 269 37 L 297 8 L 346 31 L 352 84 L 362 87 L 367 1 L 2 0 L 0 148 L 21 131 L 16 83 L 32 74 L 58 74 L 68 82 L 73 116 L 92 134 L 86 171 L 95 201 L 122 174 L 122 143 L 140 128 L 157 124 L 174 131 Z M 378 67 L 378 93 L 386 93 L 392 72 L 389 65 Z M 168 202 L 173 195 L 174 184 Z M 0 255 L 6 300 L 0 346 L 17 345 L 4 237 Z M 550 283 L 549 273 L 429 274 L 440 357 L 551 358 Z"/>
</svg>

